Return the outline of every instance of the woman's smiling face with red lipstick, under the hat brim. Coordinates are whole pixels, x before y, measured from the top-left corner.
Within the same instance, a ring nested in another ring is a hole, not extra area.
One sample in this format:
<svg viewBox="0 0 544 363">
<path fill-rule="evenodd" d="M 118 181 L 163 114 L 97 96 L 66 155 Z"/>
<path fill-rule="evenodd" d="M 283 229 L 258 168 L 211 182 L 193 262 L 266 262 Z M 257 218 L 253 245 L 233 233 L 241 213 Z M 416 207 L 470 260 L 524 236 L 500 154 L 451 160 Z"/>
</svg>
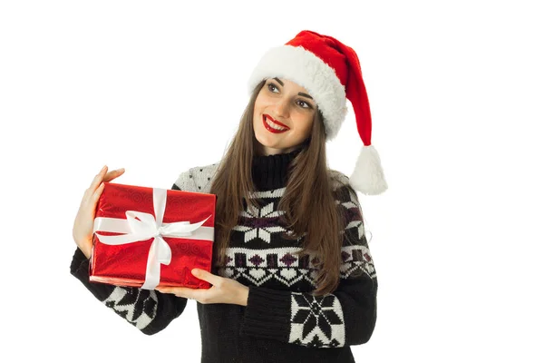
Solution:
<svg viewBox="0 0 544 363">
<path fill-rule="evenodd" d="M 257 94 L 253 129 L 259 154 L 292 152 L 312 130 L 316 103 L 304 87 L 283 78 L 270 78 Z"/>
</svg>

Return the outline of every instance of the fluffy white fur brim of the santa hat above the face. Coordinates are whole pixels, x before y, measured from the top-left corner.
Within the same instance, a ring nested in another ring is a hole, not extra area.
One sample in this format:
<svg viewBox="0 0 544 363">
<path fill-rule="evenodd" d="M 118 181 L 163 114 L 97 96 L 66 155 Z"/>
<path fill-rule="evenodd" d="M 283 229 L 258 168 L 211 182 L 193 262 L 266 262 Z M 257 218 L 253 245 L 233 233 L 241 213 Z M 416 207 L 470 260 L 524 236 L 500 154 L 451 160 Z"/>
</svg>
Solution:
<svg viewBox="0 0 544 363">
<path fill-rule="evenodd" d="M 286 78 L 306 88 L 325 118 L 326 140 L 332 140 L 345 120 L 345 88 L 335 70 L 302 46 L 281 45 L 262 56 L 249 77 L 249 93 L 267 78 Z"/>
</svg>

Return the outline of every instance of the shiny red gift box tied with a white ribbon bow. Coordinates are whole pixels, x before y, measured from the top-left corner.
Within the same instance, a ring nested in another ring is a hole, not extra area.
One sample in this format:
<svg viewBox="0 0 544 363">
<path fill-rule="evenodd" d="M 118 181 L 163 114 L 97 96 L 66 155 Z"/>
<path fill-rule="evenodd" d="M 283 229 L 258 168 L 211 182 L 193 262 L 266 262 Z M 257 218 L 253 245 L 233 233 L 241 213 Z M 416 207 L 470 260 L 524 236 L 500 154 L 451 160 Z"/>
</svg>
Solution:
<svg viewBox="0 0 544 363">
<path fill-rule="evenodd" d="M 89 280 L 209 289 L 190 271 L 211 271 L 215 205 L 215 194 L 104 182 Z"/>
</svg>

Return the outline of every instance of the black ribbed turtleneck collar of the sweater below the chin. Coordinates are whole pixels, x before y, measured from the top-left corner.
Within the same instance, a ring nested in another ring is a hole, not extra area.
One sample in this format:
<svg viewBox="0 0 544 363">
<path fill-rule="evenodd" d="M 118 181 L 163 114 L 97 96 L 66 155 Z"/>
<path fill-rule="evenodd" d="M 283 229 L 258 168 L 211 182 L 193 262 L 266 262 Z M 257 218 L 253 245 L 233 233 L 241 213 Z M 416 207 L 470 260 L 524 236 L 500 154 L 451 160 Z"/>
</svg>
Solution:
<svg viewBox="0 0 544 363">
<path fill-rule="evenodd" d="M 285 187 L 289 163 L 301 150 L 302 148 L 299 148 L 293 152 L 254 156 L 252 175 L 257 190 L 267 191 Z"/>
</svg>

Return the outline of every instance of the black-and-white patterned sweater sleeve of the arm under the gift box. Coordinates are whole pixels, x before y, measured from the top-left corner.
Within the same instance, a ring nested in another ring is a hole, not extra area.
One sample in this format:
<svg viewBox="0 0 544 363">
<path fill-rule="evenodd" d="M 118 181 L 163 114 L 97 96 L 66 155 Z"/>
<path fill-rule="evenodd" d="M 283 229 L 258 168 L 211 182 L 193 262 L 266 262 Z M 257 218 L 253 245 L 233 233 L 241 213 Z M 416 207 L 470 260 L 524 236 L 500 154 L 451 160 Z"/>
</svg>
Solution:
<svg viewBox="0 0 544 363">
<path fill-rule="evenodd" d="M 186 178 L 183 178 L 185 176 Z M 178 182 L 186 181 L 189 172 L 182 173 Z M 190 181 L 187 183 L 189 184 Z M 174 183 L 173 190 L 180 190 Z M 165 329 L 173 319 L 178 318 L 187 299 L 172 294 L 163 294 L 155 289 L 119 287 L 89 280 L 89 259 L 77 248 L 70 266 L 71 274 L 92 292 L 96 299 L 121 318 L 140 329 L 143 334 L 152 335 Z"/>
</svg>

